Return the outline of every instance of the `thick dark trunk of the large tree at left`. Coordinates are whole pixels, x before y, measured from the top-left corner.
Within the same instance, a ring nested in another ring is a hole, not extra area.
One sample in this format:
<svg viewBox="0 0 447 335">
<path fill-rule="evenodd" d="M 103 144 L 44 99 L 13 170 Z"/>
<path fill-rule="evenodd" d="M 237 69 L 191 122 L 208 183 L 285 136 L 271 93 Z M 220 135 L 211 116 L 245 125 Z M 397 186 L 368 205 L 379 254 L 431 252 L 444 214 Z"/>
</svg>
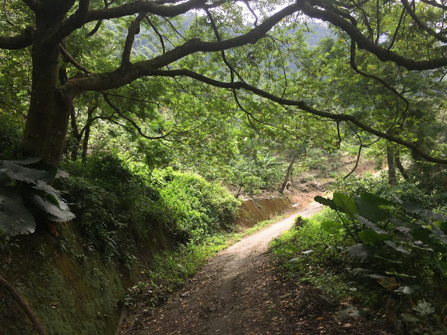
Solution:
<svg viewBox="0 0 447 335">
<path fill-rule="evenodd" d="M 23 144 L 45 163 L 57 167 L 62 156 L 73 98 L 57 91 L 59 43 L 45 40 L 57 29 L 59 20 L 36 18 L 36 33 L 31 52 L 33 71 L 31 100 Z"/>
</svg>

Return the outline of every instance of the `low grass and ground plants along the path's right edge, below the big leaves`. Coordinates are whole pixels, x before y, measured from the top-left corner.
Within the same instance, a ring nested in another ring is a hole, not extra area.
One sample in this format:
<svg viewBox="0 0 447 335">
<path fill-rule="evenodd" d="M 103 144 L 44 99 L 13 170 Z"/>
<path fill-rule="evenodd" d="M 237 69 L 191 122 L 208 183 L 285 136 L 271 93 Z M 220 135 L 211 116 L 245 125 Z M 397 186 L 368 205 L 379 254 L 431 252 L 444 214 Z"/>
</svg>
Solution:
<svg viewBox="0 0 447 335">
<path fill-rule="evenodd" d="M 326 232 L 321 228 L 321 223 L 333 221 L 334 215 L 324 209 L 311 218 L 300 218 L 299 226 L 274 239 L 270 248 L 279 269 L 296 283 L 310 285 L 339 301 L 345 310 L 346 305 L 356 306 L 361 315 L 383 320 L 393 315 L 402 334 L 447 334 L 445 285 L 427 276 L 424 285 L 411 286 L 415 292 L 410 296 L 397 290 L 405 287 L 402 278 L 389 285 L 393 281 L 367 276 L 374 273 L 376 265 L 359 262 L 344 252 L 353 244 L 344 230 Z M 390 301 L 393 309 L 387 307 Z"/>
</svg>

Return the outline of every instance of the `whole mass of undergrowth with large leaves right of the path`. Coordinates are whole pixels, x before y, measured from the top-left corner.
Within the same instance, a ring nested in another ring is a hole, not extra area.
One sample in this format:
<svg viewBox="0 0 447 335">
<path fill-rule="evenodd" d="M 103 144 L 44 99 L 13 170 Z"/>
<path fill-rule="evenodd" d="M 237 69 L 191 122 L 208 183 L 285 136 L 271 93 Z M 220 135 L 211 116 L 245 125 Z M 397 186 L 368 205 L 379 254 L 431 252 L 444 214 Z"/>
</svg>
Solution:
<svg viewBox="0 0 447 335">
<path fill-rule="evenodd" d="M 333 199 L 316 197 L 330 209 L 272 241 L 281 268 L 402 334 L 446 334 L 444 195 L 370 175 L 332 187 Z"/>
</svg>

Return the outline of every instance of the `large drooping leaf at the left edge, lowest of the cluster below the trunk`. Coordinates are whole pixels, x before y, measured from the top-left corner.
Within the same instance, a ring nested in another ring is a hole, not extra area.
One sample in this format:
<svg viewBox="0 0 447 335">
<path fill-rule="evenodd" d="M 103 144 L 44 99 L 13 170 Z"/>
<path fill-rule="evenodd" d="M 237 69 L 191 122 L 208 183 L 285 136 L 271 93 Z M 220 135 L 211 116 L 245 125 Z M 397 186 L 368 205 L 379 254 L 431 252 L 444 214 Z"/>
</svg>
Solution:
<svg viewBox="0 0 447 335">
<path fill-rule="evenodd" d="M 34 217 L 24 207 L 18 191 L 0 188 L 0 230 L 5 234 L 31 234 L 36 230 Z"/>
</svg>

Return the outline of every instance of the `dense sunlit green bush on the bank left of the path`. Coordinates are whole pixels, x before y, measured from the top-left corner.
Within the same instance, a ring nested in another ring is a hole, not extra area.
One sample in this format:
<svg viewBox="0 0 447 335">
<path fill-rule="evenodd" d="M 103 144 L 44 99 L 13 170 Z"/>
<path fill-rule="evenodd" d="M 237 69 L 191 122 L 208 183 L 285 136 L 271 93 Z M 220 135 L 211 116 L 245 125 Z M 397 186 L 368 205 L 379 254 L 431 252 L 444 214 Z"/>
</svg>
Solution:
<svg viewBox="0 0 447 335">
<path fill-rule="evenodd" d="M 149 170 L 112 154 L 66 162 L 61 181 L 85 245 L 107 260 L 132 255 L 135 241 L 162 230 L 173 241 L 200 241 L 234 221 L 239 202 L 196 174 Z M 124 259 L 126 261 L 126 259 Z"/>
</svg>

